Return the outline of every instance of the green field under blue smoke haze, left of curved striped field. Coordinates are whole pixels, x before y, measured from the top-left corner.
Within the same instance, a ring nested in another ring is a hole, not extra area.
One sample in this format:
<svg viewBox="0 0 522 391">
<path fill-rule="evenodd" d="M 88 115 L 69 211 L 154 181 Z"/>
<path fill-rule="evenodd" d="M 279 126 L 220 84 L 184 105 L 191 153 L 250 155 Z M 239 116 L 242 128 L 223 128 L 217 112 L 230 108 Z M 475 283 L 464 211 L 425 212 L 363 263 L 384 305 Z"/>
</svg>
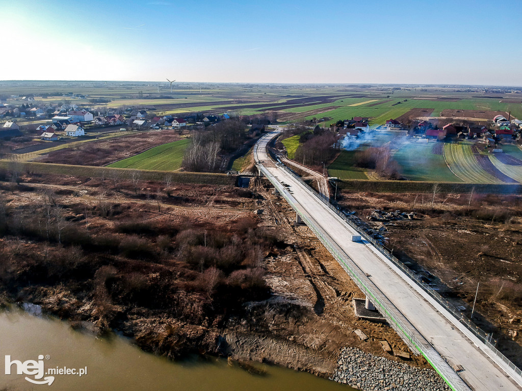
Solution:
<svg viewBox="0 0 522 391">
<path fill-rule="evenodd" d="M 399 163 L 408 180 L 423 180 L 434 182 L 461 182 L 446 165 L 443 155 L 432 153 L 433 143 L 406 143 L 395 153 L 394 158 Z"/>
</svg>

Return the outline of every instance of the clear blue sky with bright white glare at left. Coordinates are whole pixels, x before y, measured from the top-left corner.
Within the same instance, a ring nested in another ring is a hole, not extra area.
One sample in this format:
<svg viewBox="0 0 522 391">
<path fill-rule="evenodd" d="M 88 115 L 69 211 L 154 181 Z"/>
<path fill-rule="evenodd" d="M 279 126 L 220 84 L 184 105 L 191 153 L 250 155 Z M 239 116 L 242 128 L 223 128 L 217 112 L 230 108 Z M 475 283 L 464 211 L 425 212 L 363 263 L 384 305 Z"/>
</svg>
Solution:
<svg viewBox="0 0 522 391">
<path fill-rule="evenodd" d="M 0 80 L 522 85 L 519 0 L 0 0 Z"/>
</svg>

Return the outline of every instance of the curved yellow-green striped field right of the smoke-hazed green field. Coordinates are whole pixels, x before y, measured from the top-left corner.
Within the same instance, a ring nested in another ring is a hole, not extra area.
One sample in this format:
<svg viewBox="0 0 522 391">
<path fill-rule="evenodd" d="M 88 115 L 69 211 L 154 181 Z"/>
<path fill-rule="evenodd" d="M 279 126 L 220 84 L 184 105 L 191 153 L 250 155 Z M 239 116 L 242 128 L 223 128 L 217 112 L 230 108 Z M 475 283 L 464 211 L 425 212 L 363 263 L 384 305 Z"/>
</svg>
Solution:
<svg viewBox="0 0 522 391">
<path fill-rule="evenodd" d="M 470 145 L 445 144 L 444 159 L 452 172 L 465 182 L 478 184 L 504 183 L 479 165 Z"/>
</svg>

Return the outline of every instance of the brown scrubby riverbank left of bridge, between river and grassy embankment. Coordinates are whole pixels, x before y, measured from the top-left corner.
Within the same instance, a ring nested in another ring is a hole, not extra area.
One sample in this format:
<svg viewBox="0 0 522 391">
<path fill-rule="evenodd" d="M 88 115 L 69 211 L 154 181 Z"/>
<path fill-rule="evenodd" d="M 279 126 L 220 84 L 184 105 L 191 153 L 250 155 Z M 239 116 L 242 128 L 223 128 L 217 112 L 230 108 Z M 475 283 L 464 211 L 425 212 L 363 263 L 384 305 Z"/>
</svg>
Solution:
<svg viewBox="0 0 522 391">
<path fill-rule="evenodd" d="M 354 315 L 362 292 L 262 183 L 22 179 L 0 187 L 9 302 L 121 333 L 158 356 L 230 357 L 326 378 L 342 346 L 395 361 L 379 341 L 408 349 L 388 325 Z M 430 368 L 422 357 L 408 363 Z"/>
</svg>

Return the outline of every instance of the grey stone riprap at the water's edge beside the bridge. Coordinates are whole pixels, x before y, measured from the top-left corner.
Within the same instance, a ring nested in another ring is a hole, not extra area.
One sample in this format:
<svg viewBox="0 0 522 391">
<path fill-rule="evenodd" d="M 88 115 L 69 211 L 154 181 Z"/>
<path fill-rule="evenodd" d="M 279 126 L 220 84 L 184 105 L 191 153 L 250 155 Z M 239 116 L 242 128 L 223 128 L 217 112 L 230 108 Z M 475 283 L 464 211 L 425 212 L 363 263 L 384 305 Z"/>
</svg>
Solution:
<svg viewBox="0 0 522 391">
<path fill-rule="evenodd" d="M 450 390 L 436 372 L 419 369 L 356 348 L 343 348 L 331 380 L 364 391 Z"/>
</svg>

